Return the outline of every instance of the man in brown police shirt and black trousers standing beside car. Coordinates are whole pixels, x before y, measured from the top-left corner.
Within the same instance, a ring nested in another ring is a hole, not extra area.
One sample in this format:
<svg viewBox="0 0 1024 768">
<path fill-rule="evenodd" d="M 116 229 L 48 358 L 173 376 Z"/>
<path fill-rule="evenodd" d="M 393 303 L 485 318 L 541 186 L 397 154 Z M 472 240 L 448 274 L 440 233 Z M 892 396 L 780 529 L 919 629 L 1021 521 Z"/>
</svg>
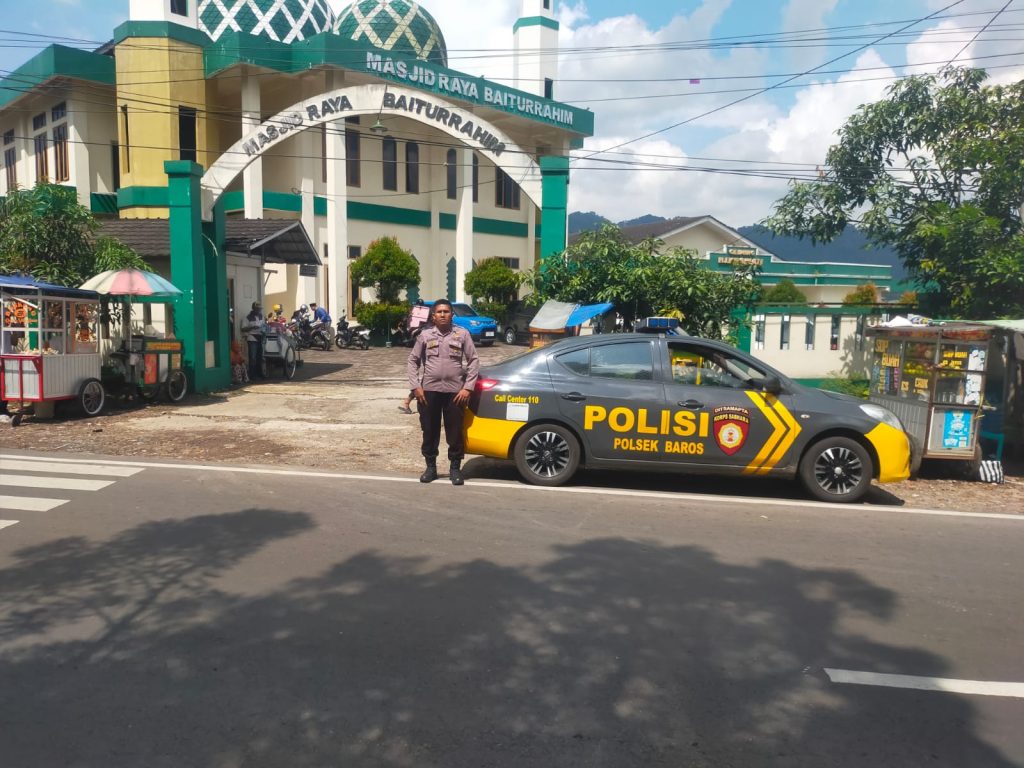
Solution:
<svg viewBox="0 0 1024 768">
<path fill-rule="evenodd" d="M 430 317 L 433 327 L 416 338 L 407 365 L 409 386 L 419 402 L 420 427 L 423 429 L 421 451 L 427 462 L 420 482 L 437 479 L 437 449 L 443 417 L 451 463 L 449 478 L 453 485 L 462 485 L 462 459 L 465 455 L 462 420 L 469 395 L 476 386 L 480 359 L 469 333 L 452 325 L 452 302 L 447 299 L 435 301 Z"/>
</svg>

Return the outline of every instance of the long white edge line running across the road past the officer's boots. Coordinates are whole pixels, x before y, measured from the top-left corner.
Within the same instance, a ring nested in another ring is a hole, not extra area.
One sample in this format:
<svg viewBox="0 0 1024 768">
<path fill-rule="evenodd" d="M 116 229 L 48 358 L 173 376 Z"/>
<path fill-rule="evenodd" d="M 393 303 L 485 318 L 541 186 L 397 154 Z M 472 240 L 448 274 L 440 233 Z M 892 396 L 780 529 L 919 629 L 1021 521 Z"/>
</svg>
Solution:
<svg viewBox="0 0 1024 768">
<path fill-rule="evenodd" d="M 26 461 L 51 461 L 46 457 L 0 455 L 0 459 L 23 459 Z M 60 459 L 62 462 L 88 464 L 95 459 Z M 376 480 L 379 482 L 419 482 L 416 477 L 394 477 L 388 475 L 361 475 L 345 472 L 310 472 L 303 469 L 270 469 L 257 467 L 207 466 L 204 464 L 170 464 L 162 462 L 128 462 L 103 461 L 103 465 L 121 467 L 142 467 L 150 469 L 177 469 L 191 472 L 228 472 L 238 474 L 275 475 L 282 477 L 309 477 L 324 480 Z M 903 515 L 935 515 L 939 517 L 967 517 L 994 520 L 1013 520 L 1024 522 L 1024 515 L 1004 514 L 999 512 L 955 512 L 946 509 L 908 509 L 881 504 L 828 504 L 827 502 L 811 502 L 795 499 L 764 499 L 749 496 L 715 496 L 712 494 L 673 494 L 657 490 L 625 490 L 622 488 L 584 488 L 558 487 L 547 488 L 540 485 L 525 485 L 517 482 L 495 482 L 493 480 L 471 480 L 466 487 L 470 488 L 501 488 L 504 490 L 522 490 L 540 494 L 585 494 L 590 496 L 621 496 L 632 499 L 656 499 L 664 502 L 707 502 L 710 505 L 721 506 L 729 504 L 746 504 L 761 507 L 793 507 L 802 509 L 825 509 L 831 512 L 894 512 Z M 461 493 L 461 492 L 460 492 Z"/>
</svg>

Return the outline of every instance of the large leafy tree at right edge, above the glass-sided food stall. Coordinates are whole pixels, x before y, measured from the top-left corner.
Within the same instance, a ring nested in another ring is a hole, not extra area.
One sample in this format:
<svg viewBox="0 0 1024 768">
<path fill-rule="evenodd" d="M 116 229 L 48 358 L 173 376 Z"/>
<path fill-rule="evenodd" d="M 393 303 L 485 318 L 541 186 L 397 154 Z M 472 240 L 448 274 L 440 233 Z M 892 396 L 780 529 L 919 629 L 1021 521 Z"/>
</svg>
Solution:
<svg viewBox="0 0 1024 768">
<path fill-rule="evenodd" d="M 939 305 L 962 317 L 1024 311 L 1024 81 L 982 70 L 905 78 L 861 106 L 764 223 L 827 243 L 853 217 L 892 246 Z"/>
</svg>

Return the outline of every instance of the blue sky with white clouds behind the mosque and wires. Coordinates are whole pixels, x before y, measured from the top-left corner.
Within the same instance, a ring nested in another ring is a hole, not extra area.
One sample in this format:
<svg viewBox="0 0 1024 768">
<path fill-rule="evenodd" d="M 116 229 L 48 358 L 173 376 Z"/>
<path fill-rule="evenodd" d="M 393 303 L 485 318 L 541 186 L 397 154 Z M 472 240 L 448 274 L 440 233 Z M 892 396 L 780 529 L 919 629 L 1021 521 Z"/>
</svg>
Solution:
<svg viewBox="0 0 1024 768">
<path fill-rule="evenodd" d="M 346 4 L 329 1 L 336 11 Z M 569 210 L 612 221 L 710 214 L 757 223 L 792 178 L 815 175 L 837 130 L 897 78 L 950 61 L 983 67 L 993 82 L 1024 78 L 1024 0 L 554 2 L 555 97 L 595 121 L 574 153 Z M 511 83 L 520 0 L 423 5 L 452 69 Z M 0 75 L 58 37 L 98 45 L 128 15 L 128 0 L 0 7 Z"/>
</svg>

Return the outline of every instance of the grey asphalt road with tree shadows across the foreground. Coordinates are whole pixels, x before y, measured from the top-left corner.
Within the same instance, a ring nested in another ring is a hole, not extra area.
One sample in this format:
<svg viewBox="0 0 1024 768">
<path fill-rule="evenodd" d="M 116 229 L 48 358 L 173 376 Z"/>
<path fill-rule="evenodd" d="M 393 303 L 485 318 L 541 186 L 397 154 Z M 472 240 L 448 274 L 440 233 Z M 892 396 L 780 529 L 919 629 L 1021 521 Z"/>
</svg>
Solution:
<svg viewBox="0 0 1024 768">
<path fill-rule="evenodd" d="M 1022 517 L 0 454 L 4 768 L 1024 766 Z"/>
</svg>

